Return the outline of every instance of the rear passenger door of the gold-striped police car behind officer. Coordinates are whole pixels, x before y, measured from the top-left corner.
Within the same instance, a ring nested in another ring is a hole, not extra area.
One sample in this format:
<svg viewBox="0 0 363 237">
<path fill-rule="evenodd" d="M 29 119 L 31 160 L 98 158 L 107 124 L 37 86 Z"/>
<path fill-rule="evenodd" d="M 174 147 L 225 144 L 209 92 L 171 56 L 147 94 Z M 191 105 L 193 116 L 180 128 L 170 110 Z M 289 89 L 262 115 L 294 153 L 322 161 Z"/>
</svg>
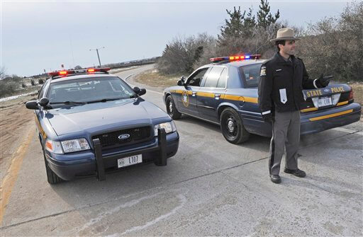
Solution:
<svg viewBox="0 0 363 237">
<path fill-rule="evenodd" d="M 227 67 L 214 66 L 209 71 L 196 94 L 199 117 L 211 122 L 218 122 L 217 108 L 220 104 L 220 98 L 223 98 L 225 94 L 227 77 Z"/>
</svg>

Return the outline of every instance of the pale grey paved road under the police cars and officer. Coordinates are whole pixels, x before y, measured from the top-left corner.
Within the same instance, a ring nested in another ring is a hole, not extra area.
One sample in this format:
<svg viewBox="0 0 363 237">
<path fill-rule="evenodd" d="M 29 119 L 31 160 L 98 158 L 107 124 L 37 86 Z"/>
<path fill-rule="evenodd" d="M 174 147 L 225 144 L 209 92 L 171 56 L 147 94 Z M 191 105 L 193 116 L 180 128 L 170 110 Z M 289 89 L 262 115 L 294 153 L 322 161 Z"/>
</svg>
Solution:
<svg viewBox="0 0 363 237">
<path fill-rule="evenodd" d="M 143 98 L 164 110 L 160 91 Z M 176 124 L 179 151 L 167 166 L 52 186 L 33 134 L 1 236 L 363 235 L 362 122 L 301 137 L 307 177 L 281 173 L 279 185 L 269 181 L 268 138 L 237 146 L 216 125 L 191 117 Z"/>
</svg>

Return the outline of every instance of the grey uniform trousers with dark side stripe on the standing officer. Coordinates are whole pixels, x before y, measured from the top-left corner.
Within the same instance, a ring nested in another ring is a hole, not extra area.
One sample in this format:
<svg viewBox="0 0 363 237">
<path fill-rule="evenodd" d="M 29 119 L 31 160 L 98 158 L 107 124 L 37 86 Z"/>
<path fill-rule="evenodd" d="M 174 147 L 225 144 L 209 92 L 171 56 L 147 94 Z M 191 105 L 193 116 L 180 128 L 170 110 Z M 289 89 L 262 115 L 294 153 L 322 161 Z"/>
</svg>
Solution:
<svg viewBox="0 0 363 237">
<path fill-rule="evenodd" d="M 298 144 L 300 143 L 300 111 L 275 111 L 272 122 L 272 139 L 269 148 L 269 173 L 279 175 L 281 158 L 286 147 L 285 168 L 298 168 Z"/>
</svg>

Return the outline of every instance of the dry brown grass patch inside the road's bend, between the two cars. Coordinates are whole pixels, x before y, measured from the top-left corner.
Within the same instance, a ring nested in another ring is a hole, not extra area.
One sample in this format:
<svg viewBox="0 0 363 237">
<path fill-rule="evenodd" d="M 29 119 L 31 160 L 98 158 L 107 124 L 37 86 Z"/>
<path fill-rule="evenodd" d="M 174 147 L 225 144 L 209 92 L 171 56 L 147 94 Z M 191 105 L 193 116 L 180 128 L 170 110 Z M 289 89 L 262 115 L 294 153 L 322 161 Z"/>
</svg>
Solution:
<svg viewBox="0 0 363 237">
<path fill-rule="evenodd" d="M 135 76 L 135 81 L 147 86 L 167 88 L 169 86 L 177 86 L 177 81 L 180 79 L 180 76 L 164 76 L 156 69 L 150 69 Z"/>
</svg>

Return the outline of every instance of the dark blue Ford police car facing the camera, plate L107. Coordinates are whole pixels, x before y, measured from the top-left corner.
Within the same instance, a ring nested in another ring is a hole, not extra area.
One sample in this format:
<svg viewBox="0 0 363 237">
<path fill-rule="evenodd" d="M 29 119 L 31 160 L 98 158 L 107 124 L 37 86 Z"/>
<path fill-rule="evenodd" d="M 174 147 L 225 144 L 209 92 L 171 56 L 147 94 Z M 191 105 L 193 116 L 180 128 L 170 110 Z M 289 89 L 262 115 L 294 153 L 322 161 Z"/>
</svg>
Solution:
<svg viewBox="0 0 363 237">
<path fill-rule="evenodd" d="M 35 110 L 48 183 L 137 163 L 166 166 L 177 153 L 172 119 L 108 68 L 55 71 L 26 108 Z"/>
</svg>

